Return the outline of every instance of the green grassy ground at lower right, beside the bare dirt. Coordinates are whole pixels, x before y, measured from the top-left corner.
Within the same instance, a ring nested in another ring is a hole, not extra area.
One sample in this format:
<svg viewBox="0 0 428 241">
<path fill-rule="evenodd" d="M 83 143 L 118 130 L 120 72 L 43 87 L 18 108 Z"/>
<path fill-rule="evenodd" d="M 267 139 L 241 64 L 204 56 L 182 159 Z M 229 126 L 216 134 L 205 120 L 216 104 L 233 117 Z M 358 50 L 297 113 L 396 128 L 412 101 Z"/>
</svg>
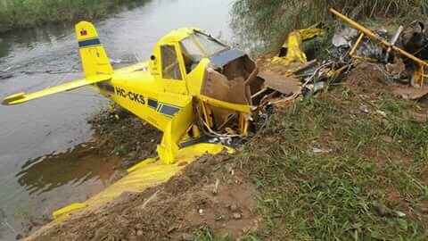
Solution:
<svg viewBox="0 0 428 241">
<path fill-rule="evenodd" d="M 428 122 L 409 114 L 423 108 L 337 87 L 278 110 L 236 156 L 262 194 L 254 237 L 427 240 Z"/>
</svg>

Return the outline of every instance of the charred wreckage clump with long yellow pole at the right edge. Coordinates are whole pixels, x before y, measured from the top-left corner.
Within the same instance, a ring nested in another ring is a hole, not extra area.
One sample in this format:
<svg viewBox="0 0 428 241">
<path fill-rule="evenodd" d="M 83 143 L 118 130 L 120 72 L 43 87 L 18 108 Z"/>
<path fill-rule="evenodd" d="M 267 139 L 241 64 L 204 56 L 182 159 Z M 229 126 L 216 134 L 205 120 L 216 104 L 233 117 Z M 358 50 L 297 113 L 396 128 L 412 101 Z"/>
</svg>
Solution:
<svg viewBox="0 0 428 241">
<path fill-rule="evenodd" d="M 344 44 L 341 46 L 348 47 L 350 51 L 348 54 L 353 60 L 382 64 L 383 68 L 391 73 L 392 79 L 407 79 L 407 82 L 414 87 L 424 85 L 424 69 L 428 66 L 428 62 L 422 60 L 428 57 L 428 55 L 422 54 L 428 46 L 424 24 L 416 23 L 416 26 L 419 26 L 416 29 L 414 27 L 404 29 L 399 26 L 397 31 L 390 36 L 385 29 L 372 31 L 358 22 L 350 20 L 341 12 L 334 9 L 330 9 L 330 12 L 358 30 L 357 38 L 355 30 L 346 29 L 333 37 L 334 44 Z M 391 40 L 389 41 L 389 39 Z M 406 62 L 405 66 L 403 66 L 404 62 Z M 389 63 L 390 65 L 388 65 Z"/>
</svg>

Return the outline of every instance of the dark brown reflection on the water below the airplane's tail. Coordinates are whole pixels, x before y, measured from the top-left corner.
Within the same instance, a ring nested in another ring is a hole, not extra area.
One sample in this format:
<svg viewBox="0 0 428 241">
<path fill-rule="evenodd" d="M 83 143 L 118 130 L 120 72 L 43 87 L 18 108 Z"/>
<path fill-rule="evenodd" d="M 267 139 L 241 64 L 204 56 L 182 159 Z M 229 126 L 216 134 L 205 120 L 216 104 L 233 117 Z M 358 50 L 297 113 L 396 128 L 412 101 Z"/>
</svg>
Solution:
<svg viewBox="0 0 428 241">
<path fill-rule="evenodd" d="M 80 186 L 88 181 L 101 181 L 107 186 L 123 174 L 123 170 L 118 170 L 119 165 L 119 157 L 106 157 L 96 148 L 78 145 L 63 154 L 29 160 L 16 177 L 30 195 L 39 195 L 57 187 Z"/>
</svg>

